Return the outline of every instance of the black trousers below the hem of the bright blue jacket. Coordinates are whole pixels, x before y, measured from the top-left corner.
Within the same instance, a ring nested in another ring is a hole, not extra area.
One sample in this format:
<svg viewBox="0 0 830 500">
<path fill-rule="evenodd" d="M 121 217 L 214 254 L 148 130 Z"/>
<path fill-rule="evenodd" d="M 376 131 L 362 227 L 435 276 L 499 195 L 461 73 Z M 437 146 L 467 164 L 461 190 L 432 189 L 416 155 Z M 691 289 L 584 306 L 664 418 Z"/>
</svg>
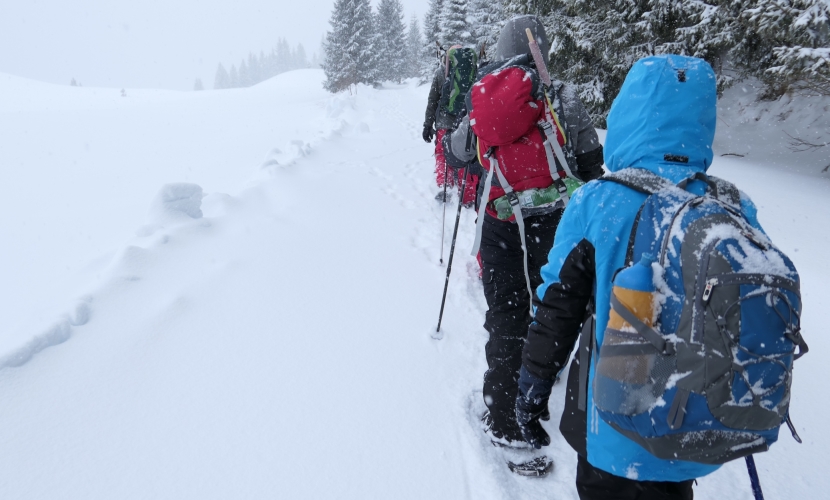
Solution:
<svg viewBox="0 0 830 500">
<path fill-rule="evenodd" d="M 694 480 L 634 481 L 597 469 L 579 455 L 576 491 L 580 500 L 692 500 Z"/>
</svg>

